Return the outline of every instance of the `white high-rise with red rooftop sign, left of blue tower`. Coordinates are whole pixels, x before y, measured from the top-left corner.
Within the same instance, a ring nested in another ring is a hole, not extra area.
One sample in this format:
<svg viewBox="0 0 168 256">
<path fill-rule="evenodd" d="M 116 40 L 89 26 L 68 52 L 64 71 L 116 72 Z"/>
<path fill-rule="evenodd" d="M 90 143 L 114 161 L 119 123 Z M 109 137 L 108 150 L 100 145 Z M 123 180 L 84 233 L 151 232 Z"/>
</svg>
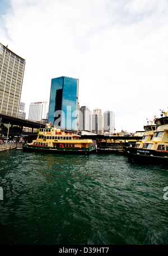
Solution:
<svg viewBox="0 0 168 256">
<path fill-rule="evenodd" d="M 30 103 L 28 119 L 34 122 L 40 121 L 41 119 L 46 119 L 47 113 L 47 101 Z"/>
</svg>

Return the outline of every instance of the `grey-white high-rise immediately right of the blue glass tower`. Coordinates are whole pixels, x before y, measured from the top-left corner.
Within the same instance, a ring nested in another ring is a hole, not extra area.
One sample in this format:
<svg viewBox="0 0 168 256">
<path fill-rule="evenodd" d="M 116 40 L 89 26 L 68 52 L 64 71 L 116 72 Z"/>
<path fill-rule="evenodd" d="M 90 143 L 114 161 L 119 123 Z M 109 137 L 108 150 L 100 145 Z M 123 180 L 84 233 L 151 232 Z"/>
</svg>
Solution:
<svg viewBox="0 0 168 256">
<path fill-rule="evenodd" d="M 87 106 L 81 106 L 80 108 L 79 130 L 92 131 L 92 112 Z"/>
</svg>

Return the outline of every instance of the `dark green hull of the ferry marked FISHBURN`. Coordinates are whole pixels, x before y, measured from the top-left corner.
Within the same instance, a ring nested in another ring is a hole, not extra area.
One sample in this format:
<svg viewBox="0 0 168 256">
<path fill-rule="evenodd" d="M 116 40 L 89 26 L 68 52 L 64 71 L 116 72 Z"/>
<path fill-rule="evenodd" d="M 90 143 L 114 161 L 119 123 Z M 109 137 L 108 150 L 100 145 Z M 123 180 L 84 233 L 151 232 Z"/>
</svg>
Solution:
<svg viewBox="0 0 168 256">
<path fill-rule="evenodd" d="M 149 163 L 149 164 L 166 164 L 168 165 L 168 152 L 147 150 L 144 148 L 124 147 L 124 155 L 128 157 L 129 161 Z"/>
</svg>

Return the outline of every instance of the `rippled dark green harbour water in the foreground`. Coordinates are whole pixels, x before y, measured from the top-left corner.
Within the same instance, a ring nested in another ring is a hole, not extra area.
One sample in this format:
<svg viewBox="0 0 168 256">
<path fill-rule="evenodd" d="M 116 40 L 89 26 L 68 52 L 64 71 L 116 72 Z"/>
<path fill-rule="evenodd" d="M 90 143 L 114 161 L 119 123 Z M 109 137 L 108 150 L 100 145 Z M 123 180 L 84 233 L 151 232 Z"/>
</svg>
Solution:
<svg viewBox="0 0 168 256">
<path fill-rule="evenodd" d="M 0 244 L 168 244 L 168 167 L 113 154 L 0 159 Z"/>
</svg>

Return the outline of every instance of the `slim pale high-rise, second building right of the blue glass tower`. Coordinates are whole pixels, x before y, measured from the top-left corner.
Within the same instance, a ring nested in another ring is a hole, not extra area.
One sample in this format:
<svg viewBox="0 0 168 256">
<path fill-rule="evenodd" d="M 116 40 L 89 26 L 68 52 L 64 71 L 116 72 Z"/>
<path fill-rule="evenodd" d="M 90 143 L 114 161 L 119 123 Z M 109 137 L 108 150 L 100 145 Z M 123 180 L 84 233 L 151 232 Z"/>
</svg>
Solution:
<svg viewBox="0 0 168 256">
<path fill-rule="evenodd" d="M 102 134 L 102 115 L 101 109 L 94 109 L 92 114 L 92 132 Z"/>
</svg>

